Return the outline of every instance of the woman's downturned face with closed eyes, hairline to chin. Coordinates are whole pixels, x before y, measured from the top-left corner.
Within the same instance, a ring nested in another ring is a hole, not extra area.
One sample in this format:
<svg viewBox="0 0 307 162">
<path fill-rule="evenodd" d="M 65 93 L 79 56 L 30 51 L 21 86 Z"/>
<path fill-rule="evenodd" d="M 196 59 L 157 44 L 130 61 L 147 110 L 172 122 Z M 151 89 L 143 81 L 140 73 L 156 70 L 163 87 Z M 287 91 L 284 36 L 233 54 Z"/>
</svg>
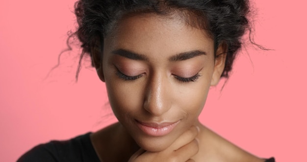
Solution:
<svg viewBox="0 0 307 162">
<path fill-rule="evenodd" d="M 204 30 L 177 17 L 125 18 L 115 33 L 96 63 L 113 112 L 140 147 L 163 150 L 198 122 L 223 59 Z"/>
</svg>

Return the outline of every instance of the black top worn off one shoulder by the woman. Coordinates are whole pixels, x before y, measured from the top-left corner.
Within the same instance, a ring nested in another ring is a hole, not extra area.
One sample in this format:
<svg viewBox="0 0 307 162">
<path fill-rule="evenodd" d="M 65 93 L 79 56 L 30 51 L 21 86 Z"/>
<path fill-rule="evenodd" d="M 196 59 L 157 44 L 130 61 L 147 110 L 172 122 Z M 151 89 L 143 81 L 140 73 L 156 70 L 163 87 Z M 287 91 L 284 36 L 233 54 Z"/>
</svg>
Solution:
<svg viewBox="0 0 307 162">
<path fill-rule="evenodd" d="M 35 146 L 17 162 L 100 162 L 92 145 L 90 134 L 66 141 L 51 141 Z M 275 162 L 274 158 L 265 162 Z"/>
</svg>

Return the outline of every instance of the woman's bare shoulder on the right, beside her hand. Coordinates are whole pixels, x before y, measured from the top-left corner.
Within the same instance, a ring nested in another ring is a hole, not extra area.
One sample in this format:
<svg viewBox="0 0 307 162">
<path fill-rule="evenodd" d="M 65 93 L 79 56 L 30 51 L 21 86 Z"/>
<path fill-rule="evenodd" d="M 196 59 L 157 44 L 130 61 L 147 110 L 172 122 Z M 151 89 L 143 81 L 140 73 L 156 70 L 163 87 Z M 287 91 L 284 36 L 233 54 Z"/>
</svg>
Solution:
<svg viewBox="0 0 307 162">
<path fill-rule="evenodd" d="M 237 147 L 205 126 L 201 127 L 198 136 L 200 150 L 193 158 L 196 162 L 265 162 L 264 159 Z"/>
</svg>

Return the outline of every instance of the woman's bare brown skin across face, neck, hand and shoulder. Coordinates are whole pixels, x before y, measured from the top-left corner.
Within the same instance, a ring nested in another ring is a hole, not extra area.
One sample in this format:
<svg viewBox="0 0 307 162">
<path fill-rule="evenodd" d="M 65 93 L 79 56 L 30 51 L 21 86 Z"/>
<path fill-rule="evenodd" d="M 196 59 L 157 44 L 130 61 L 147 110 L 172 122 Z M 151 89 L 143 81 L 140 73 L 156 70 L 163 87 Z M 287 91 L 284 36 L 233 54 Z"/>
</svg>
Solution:
<svg viewBox="0 0 307 162">
<path fill-rule="evenodd" d="M 101 161 L 263 162 L 198 121 L 210 86 L 220 80 L 227 52 L 224 46 L 218 47 L 216 53 L 221 55 L 215 59 L 213 40 L 205 30 L 187 25 L 176 14 L 144 14 L 121 20 L 115 32 L 105 38 L 103 52 L 98 44 L 92 48 L 93 62 L 119 120 L 91 135 Z M 119 49 L 146 59 L 113 53 Z M 196 50 L 205 54 L 170 59 Z M 118 70 L 140 77 L 125 81 L 117 75 Z M 198 73 L 201 77 L 197 81 L 177 78 Z M 135 120 L 179 123 L 169 134 L 157 137 L 142 132 Z"/>
</svg>

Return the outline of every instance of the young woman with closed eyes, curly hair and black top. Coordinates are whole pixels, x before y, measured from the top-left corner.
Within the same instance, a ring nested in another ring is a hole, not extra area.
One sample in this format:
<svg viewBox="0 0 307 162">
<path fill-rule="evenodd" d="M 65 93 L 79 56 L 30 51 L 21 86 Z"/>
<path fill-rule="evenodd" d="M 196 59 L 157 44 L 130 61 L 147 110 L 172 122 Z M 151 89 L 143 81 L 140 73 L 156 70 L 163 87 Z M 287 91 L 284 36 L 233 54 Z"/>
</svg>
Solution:
<svg viewBox="0 0 307 162">
<path fill-rule="evenodd" d="M 79 0 L 78 30 L 118 123 L 34 147 L 19 162 L 274 162 L 202 125 L 250 30 L 248 0 Z"/>
</svg>

